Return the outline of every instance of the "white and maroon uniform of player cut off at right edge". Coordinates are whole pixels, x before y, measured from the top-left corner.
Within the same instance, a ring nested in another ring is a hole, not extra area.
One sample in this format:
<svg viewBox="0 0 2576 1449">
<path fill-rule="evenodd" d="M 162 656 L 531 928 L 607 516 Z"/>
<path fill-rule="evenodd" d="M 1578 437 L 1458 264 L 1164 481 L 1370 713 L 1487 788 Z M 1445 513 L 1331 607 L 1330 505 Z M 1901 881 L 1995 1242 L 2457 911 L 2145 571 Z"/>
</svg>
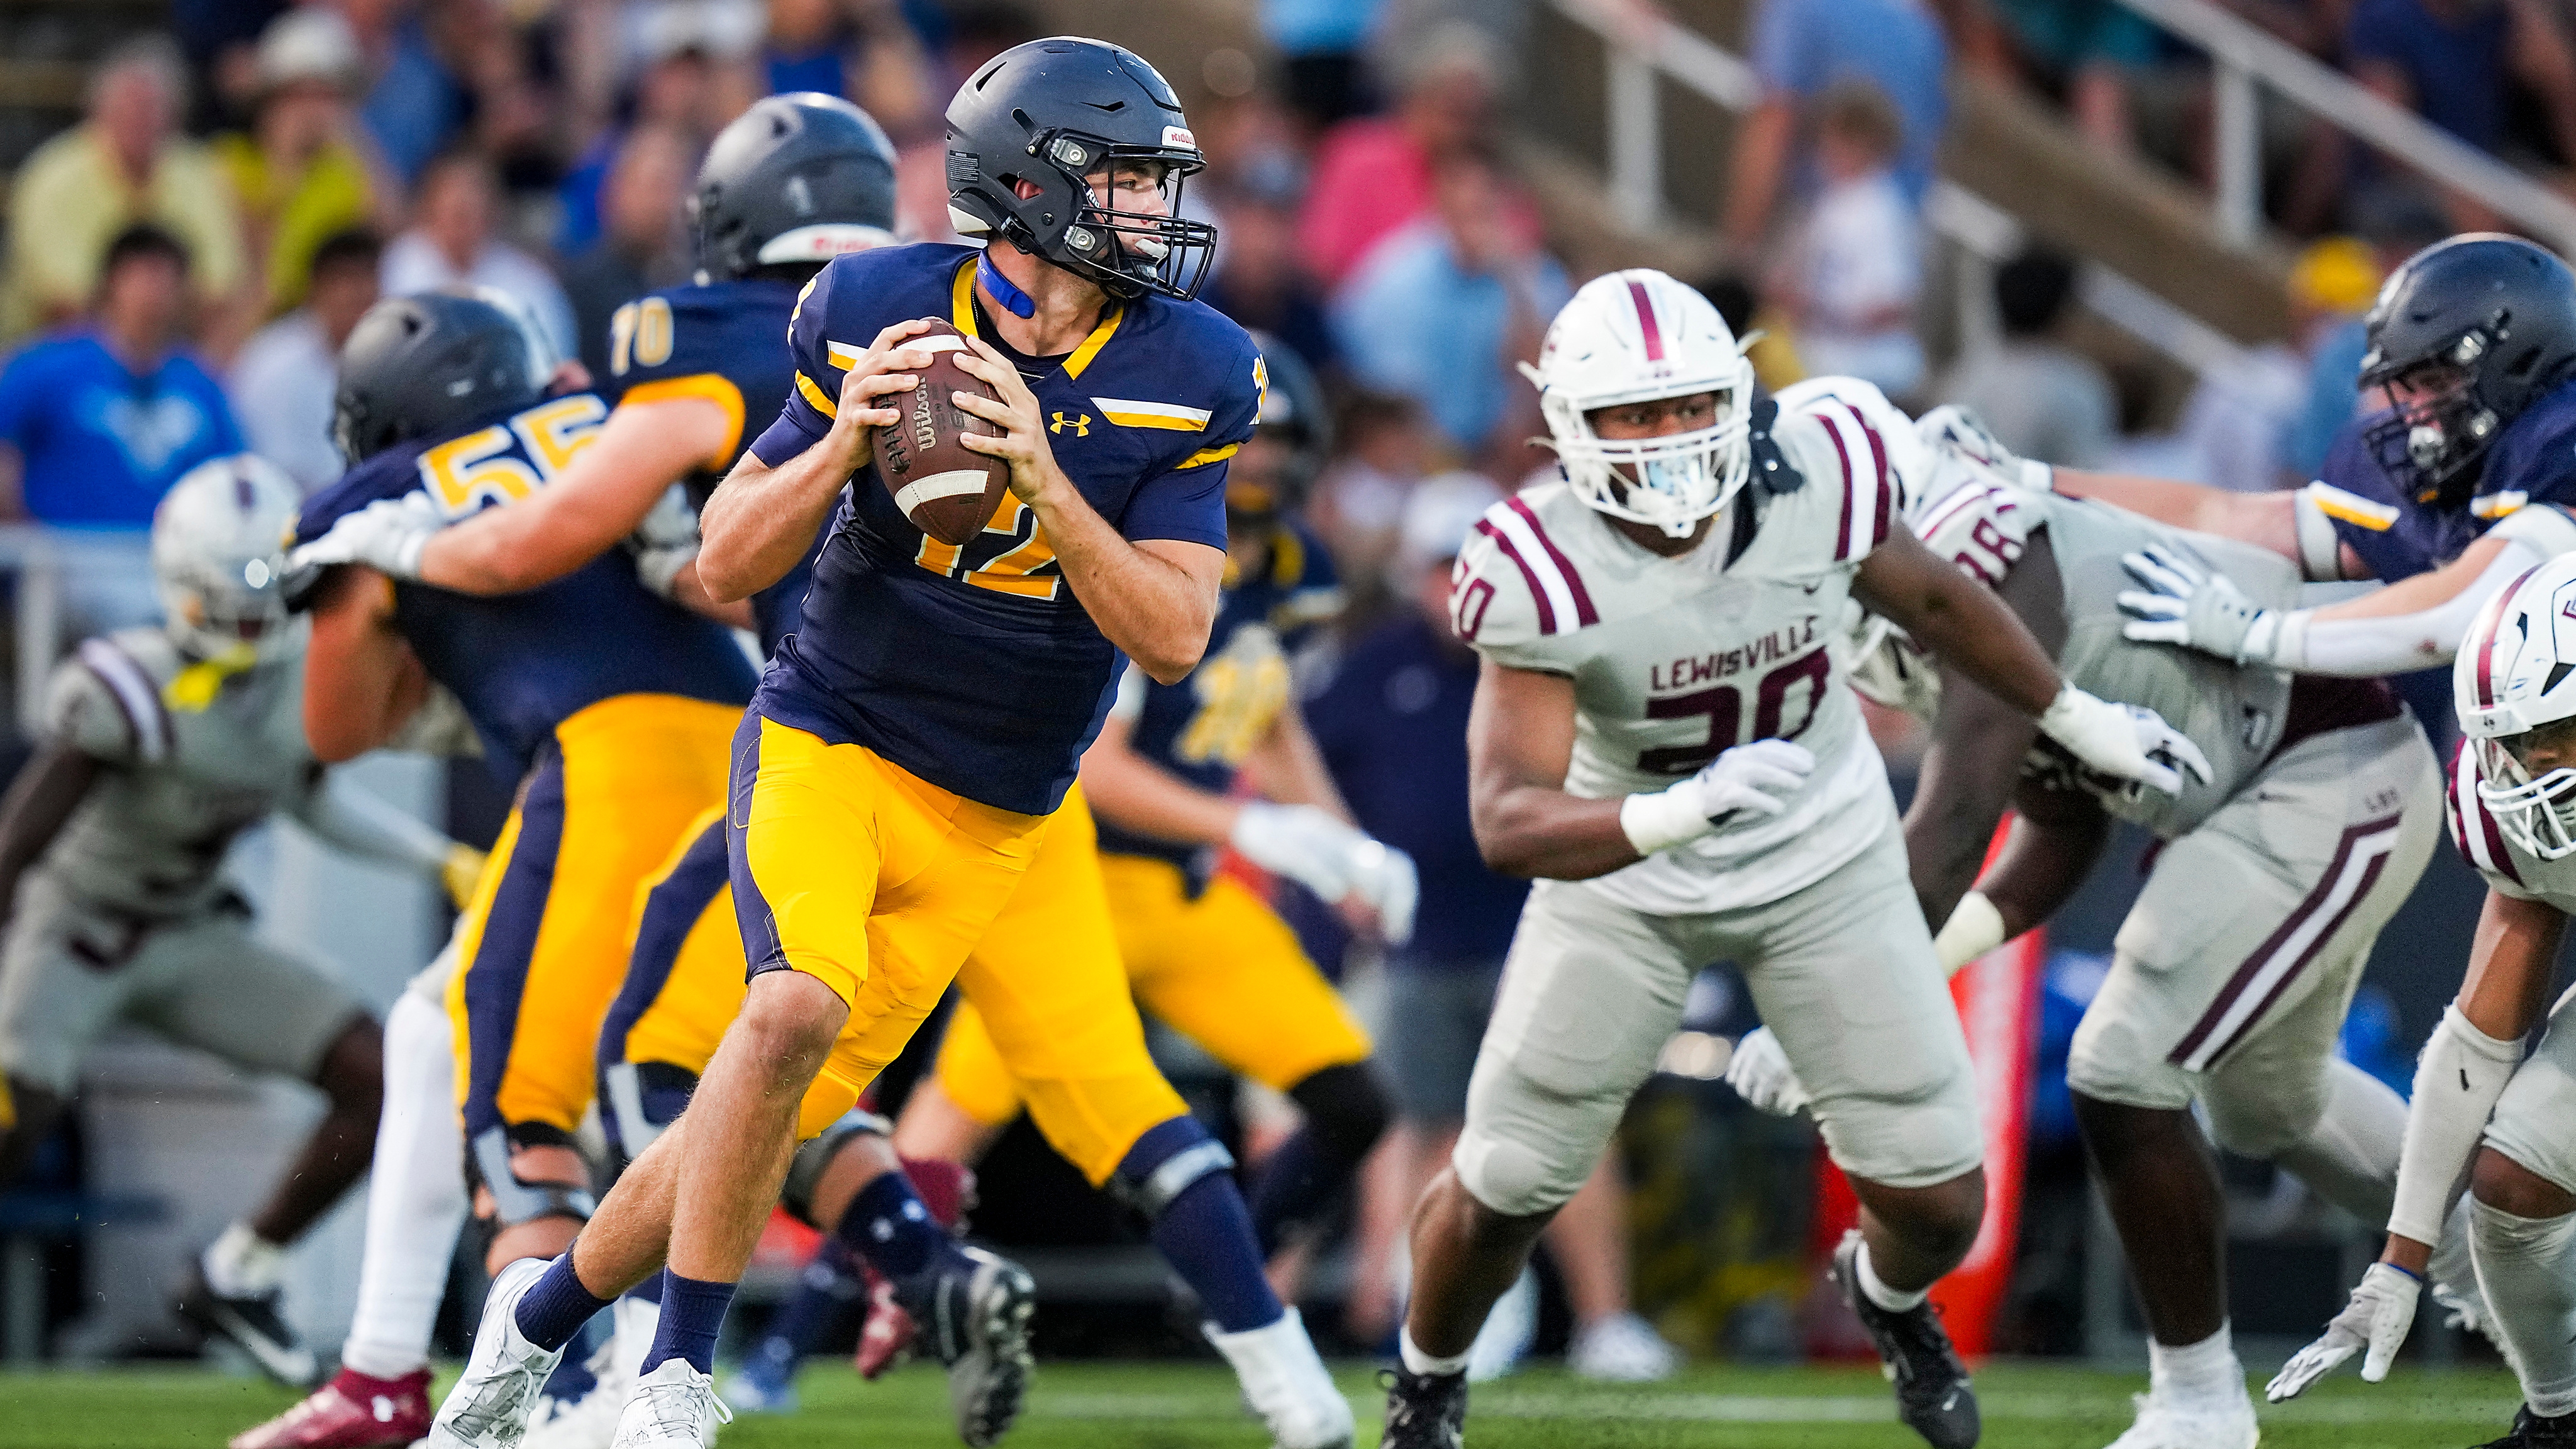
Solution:
<svg viewBox="0 0 2576 1449">
<path fill-rule="evenodd" d="M 2519 588 L 2519 580 L 2514 580 Z M 2512 598 L 2514 588 L 2496 593 Z M 2478 799 L 2478 753 L 2463 748 L 2450 761 L 2450 841 L 2478 866 L 2486 887 L 2514 900 L 2540 900 L 2576 915 L 2576 856 L 2543 861 L 2514 846 Z M 2568 990 L 2550 1006 L 2540 1047 L 2514 1070 L 2486 1119 L 2486 1145 L 2576 1191 L 2576 1016 Z"/>
</svg>

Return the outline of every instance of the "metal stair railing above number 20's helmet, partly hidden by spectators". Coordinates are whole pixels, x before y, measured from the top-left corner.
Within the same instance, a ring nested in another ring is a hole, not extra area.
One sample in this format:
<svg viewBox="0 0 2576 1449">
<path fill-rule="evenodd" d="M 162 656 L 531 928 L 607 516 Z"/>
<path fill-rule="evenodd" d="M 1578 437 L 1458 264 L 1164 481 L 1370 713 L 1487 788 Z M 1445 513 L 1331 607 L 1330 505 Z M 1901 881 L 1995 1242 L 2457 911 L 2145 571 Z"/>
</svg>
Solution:
<svg viewBox="0 0 2576 1449">
<path fill-rule="evenodd" d="M 1646 232 L 1664 219 L 1664 119 L 1656 85 L 1672 80 L 1741 113 L 1762 103 L 1762 77 L 1744 57 L 1651 5 L 1631 0 L 1553 0 L 1553 5 L 1597 34 L 1607 49 L 1610 204 L 1623 227 Z M 1924 224 L 1958 245 L 1965 263 L 1968 276 L 1958 289 L 1960 330 L 1968 338 L 1989 333 L 1994 320 L 1981 286 L 1984 268 L 2020 250 L 2022 224 L 1955 180 L 1932 183 L 1924 196 Z M 2226 371 L 2244 356 L 2244 348 L 2215 327 L 2102 263 L 2084 263 L 2079 294 L 2094 315 L 2195 376 Z"/>
</svg>

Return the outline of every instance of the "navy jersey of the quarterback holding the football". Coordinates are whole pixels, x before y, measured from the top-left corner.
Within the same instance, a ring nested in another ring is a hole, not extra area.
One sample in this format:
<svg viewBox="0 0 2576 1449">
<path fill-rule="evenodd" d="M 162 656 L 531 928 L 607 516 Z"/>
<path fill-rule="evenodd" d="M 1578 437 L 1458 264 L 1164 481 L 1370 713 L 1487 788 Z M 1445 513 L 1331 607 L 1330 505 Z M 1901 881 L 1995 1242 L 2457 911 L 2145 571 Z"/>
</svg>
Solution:
<svg viewBox="0 0 2576 1449">
<path fill-rule="evenodd" d="M 889 322 L 979 330 L 971 248 L 835 258 L 796 304 L 796 384 L 752 451 L 775 467 L 819 441 L 845 361 Z M 1128 539 L 1226 547 L 1226 459 L 1260 410 L 1252 338 L 1198 302 L 1141 297 L 1030 382 L 1056 464 Z M 914 529 L 863 464 L 814 562 L 804 624 L 757 709 L 866 745 L 994 810 L 1043 815 L 1110 704 L 1118 650 L 1064 588 L 1036 516 L 1005 498 L 966 547 Z"/>
</svg>

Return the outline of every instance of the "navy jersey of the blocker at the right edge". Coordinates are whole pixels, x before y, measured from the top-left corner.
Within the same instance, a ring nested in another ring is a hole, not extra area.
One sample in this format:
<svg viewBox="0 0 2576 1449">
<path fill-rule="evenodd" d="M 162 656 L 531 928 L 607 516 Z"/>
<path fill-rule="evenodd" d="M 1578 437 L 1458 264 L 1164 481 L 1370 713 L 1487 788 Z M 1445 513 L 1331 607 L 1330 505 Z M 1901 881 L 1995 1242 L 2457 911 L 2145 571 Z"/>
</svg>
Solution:
<svg viewBox="0 0 2576 1449">
<path fill-rule="evenodd" d="M 2434 508 L 2414 477 L 2396 477 L 2362 441 L 2385 413 L 2354 418 L 2334 438 L 2308 498 L 2334 521 L 2380 583 L 2432 572 L 2460 557 L 2496 518 L 2548 503 L 2576 508 L 2576 382 L 2561 384 L 2506 423 L 2486 451 L 2468 508 Z"/>
</svg>

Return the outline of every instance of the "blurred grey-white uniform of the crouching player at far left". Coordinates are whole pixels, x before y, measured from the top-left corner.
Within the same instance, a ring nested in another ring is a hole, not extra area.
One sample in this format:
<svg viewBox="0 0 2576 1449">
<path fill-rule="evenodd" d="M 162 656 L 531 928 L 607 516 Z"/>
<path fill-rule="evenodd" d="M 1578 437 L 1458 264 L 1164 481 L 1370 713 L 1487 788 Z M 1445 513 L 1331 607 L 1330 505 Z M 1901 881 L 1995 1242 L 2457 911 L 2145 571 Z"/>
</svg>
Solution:
<svg viewBox="0 0 2576 1449">
<path fill-rule="evenodd" d="M 304 647 L 219 688 L 162 629 L 80 645 L 46 688 L 46 737 L 98 781 L 18 882 L 0 949 L 0 1073 L 70 1093 L 118 1018 L 250 1070 L 312 1078 L 366 1008 L 309 962 L 263 944 L 222 879 L 232 841 L 317 804 L 304 745 Z M 198 665 L 204 668 L 204 665 Z"/>
</svg>

